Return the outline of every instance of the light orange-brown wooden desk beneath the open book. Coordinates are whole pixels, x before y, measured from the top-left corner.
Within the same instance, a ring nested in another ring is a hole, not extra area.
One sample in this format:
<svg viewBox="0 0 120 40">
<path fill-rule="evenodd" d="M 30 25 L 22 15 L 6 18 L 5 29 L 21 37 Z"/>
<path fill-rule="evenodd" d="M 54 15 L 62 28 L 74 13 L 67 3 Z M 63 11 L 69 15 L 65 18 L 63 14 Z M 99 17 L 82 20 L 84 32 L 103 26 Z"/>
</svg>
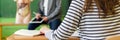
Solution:
<svg viewBox="0 0 120 40">
<path fill-rule="evenodd" d="M 48 40 L 44 35 L 35 36 L 35 37 L 27 37 L 27 36 L 17 36 L 15 34 L 7 37 L 7 40 Z M 80 40 L 77 37 L 70 37 L 68 40 Z"/>
</svg>

